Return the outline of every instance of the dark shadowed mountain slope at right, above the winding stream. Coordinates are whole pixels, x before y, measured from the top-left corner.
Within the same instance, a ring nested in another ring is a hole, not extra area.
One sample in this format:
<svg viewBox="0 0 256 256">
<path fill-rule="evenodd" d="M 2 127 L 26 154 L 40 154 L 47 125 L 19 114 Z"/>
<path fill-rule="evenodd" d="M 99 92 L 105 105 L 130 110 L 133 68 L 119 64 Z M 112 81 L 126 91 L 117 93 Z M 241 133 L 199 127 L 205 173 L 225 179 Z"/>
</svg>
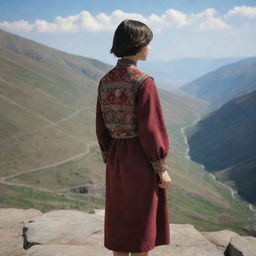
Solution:
<svg viewBox="0 0 256 256">
<path fill-rule="evenodd" d="M 256 90 L 200 120 L 188 135 L 190 156 L 256 204 Z"/>
</svg>

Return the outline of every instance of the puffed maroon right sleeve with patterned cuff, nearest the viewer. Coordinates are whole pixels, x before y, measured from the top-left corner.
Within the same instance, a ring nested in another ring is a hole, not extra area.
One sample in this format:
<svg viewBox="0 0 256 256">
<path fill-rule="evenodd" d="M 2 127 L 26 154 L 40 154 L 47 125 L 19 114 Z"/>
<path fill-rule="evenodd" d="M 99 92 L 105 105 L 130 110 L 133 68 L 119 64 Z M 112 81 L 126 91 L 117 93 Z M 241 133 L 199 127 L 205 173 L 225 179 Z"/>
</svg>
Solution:
<svg viewBox="0 0 256 256">
<path fill-rule="evenodd" d="M 153 77 L 145 79 L 136 99 L 139 140 L 155 173 L 167 170 L 169 136 Z"/>
</svg>

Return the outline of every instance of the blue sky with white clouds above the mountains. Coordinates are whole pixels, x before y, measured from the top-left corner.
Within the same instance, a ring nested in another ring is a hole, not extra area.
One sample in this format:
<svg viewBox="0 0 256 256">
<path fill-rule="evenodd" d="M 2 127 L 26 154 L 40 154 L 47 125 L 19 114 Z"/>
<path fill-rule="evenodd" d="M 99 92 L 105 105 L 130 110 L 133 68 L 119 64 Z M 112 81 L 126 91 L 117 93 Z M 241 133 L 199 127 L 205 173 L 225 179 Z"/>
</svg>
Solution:
<svg viewBox="0 0 256 256">
<path fill-rule="evenodd" d="M 127 18 L 153 31 L 148 61 L 256 55 L 256 0 L 0 0 L 0 29 L 111 65 Z"/>
</svg>

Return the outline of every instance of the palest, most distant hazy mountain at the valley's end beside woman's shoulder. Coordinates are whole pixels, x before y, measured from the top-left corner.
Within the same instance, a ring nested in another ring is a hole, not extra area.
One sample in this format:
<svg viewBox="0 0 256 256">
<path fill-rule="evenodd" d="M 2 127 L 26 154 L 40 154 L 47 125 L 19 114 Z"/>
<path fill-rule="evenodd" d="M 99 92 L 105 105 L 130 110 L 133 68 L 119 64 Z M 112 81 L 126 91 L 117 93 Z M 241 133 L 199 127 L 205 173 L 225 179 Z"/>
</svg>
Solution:
<svg viewBox="0 0 256 256">
<path fill-rule="evenodd" d="M 243 57 L 180 58 L 173 61 L 143 61 L 140 65 L 159 81 L 161 88 L 170 90 L 178 89 L 210 71 L 241 59 Z"/>
</svg>

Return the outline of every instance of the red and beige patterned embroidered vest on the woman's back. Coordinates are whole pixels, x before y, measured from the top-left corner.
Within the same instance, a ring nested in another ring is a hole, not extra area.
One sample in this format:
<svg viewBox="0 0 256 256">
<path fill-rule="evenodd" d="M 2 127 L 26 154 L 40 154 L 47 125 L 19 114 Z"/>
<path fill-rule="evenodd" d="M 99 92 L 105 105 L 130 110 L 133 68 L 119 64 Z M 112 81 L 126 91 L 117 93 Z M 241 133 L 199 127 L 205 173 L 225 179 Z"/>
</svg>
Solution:
<svg viewBox="0 0 256 256">
<path fill-rule="evenodd" d="M 138 136 L 137 93 L 142 82 L 152 76 L 137 69 L 136 64 L 131 59 L 118 59 L 116 66 L 99 82 L 102 115 L 112 138 Z"/>
</svg>

